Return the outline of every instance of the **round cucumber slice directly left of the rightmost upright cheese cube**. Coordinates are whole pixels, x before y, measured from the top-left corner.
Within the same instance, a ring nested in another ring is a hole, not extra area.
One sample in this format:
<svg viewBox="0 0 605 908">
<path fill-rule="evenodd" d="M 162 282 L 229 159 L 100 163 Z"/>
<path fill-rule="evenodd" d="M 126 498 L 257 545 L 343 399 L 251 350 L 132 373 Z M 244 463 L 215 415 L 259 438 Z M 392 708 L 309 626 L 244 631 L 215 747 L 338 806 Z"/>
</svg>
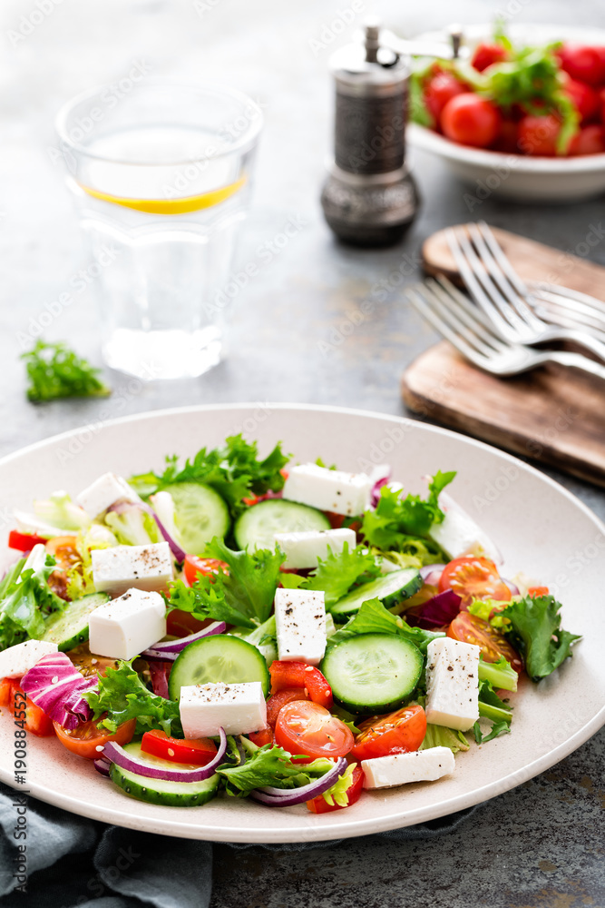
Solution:
<svg viewBox="0 0 605 908">
<path fill-rule="evenodd" d="M 359 634 L 328 650 L 321 672 L 335 700 L 352 713 L 388 713 L 412 694 L 422 653 L 395 634 Z"/>
</svg>

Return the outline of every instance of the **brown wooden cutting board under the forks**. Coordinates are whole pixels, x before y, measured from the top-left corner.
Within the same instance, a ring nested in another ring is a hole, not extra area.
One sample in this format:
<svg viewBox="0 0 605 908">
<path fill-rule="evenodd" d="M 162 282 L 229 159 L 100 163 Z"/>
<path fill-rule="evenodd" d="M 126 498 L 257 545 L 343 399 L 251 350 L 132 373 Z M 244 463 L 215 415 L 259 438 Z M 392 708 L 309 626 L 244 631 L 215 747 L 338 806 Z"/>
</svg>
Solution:
<svg viewBox="0 0 605 908">
<path fill-rule="evenodd" d="M 493 232 L 525 280 L 559 282 L 605 300 L 605 268 L 513 233 Z M 423 260 L 427 273 L 461 282 L 444 231 L 424 242 Z M 603 381 L 556 365 L 496 378 L 442 341 L 405 370 L 402 395 L 409 410 L 427 419 L 605 486 Z"/>
</svg>

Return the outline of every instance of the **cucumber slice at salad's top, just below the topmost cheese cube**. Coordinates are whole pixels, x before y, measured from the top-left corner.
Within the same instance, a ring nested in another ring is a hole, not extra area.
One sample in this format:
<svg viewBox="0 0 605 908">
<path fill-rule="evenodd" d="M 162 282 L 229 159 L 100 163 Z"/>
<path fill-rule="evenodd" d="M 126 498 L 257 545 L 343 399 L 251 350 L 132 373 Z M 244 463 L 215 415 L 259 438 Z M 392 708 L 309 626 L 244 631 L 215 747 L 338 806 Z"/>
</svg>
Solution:
<svg viewBox="0 0 605 908">
<path fill-rule="evenodd" d="M 276 533 L 301 533 L 310 529 L 329 529 L 330 521 L 316 508 L 282 498 L 268 498 L 244 511 L 236 520 L 233 533 L 238 548 L 275 548 Z"/>
</svg>

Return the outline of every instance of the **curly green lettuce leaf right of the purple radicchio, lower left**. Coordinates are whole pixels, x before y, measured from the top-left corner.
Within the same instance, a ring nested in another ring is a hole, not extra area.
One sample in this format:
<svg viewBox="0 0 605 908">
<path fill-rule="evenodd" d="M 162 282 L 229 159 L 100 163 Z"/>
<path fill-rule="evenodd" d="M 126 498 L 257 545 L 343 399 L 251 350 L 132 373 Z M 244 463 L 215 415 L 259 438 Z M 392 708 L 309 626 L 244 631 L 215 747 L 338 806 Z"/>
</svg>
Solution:
<svg viewBox="0 0 605 908">
<path fill-rule="evenodd" d="M 93 719 L 110 732 L 114 732 L 122 722 L 136 718 L 137 735 L 151 728 L 160 728 L 167 735 L 183 736 L 179 704 L 153 694 L 143 684 L 132 662 L 108 668 L 105 675 L 99 678 L 99 689 L 88 691 L 84 697 L 93 709 Z"/>
</svg>

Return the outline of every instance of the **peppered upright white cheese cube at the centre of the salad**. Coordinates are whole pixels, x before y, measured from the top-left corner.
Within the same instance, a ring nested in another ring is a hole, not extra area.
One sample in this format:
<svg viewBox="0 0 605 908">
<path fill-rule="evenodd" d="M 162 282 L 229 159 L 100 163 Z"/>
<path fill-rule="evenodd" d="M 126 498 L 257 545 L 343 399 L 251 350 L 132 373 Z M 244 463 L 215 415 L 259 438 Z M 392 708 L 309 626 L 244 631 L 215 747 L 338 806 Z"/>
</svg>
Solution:
<svg viewBox="0 0 605 908">
<path fill-rule="evenodd" d="M 275 624 L 282 662 L 319 665 L 326 652 L 326 607 L 322 591 L 277 589 Z"/>
</svg>

